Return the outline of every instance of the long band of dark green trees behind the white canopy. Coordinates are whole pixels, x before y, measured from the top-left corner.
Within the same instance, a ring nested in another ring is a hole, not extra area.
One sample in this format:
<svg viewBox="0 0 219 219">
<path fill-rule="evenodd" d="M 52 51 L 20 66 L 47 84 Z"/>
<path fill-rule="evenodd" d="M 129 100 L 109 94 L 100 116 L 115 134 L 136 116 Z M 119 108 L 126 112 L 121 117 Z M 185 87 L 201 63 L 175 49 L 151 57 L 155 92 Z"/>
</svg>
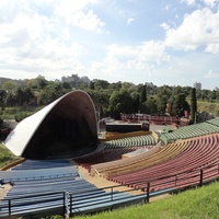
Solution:
<svg viewBox="0 0 219 219">
<path fill-rule="evenodd" d="M 157 87 L 151 83 L 110 83 L 93 80 L 72 85 L 68 82 L 47 81 L 43 77 L 24 80 L 22 83 L 4 81 L 0 88 L 0 107 L 45 106 L 72 90 L 85 91 L 102 117 L 119 118 L 120 113 L 184 116 L 188 112 L 195 119 L 198 99 L 219 100 L 219 91 L 196 91 L 191 87 Z"/>
</svg>

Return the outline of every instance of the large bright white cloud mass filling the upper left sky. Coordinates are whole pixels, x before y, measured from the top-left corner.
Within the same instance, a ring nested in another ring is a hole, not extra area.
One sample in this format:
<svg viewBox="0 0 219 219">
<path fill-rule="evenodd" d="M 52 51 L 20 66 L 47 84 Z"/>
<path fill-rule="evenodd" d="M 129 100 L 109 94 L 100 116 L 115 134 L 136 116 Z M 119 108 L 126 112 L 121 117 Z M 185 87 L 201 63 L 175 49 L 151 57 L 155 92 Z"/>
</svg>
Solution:
<svg viewBox="0 0 219 219">
<path fill-rule="evenodd" d="M 45 3 L 47 1 L 23 0 L 12 1 L 11 7 L 4 7 L 1 2 L 1 76 L 23 78 L 30 73 L 37 72 L 37 76 L 45 72 L 50 79 L 56 79 L 65 71 L 69 73 L 73 70 L 80 73 L 82 69 L 84 70 L 84 64 L 80 59 L 87 56 L 88 49 L 71 39 L 72 30 L 65 21 L 58 22 L 57 18 L 53 16 L 54 7 L 56 8 L 54 1 L 54 4 L 45 5 Z M 80 1 L 74 9 L 81 9 L 87 3 L 88 1 Z M 47 13 L 39 13 L 37 7 L 41 4 L 48 7 L 41 8 L 42 11 L 48 10 Z M 77 13 L 79 12 L 78 10 Z M 88 11 L 85 18 L 80 18 L 78 22 L 79 25 L 84 25 L 84 28 L 95 28 L 96 32 L 101 24 L 93 11 Z"/>
</svg>

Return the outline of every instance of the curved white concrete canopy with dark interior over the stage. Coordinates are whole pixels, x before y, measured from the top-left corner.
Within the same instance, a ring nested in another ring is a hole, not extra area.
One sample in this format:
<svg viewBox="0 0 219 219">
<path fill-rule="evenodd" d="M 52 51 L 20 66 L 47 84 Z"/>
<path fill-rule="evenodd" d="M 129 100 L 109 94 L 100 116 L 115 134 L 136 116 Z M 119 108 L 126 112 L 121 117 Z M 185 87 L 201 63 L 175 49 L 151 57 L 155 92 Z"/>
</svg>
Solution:
<svg viewBox="0 0 219 219">
<path fill-rule="evenodd" d="M 3 143 L 15 155 L 27 159 L 90 152 L 97 146 L 94 104 L 85 92 L 67 93 L 19 123 Z"/>
</svg>

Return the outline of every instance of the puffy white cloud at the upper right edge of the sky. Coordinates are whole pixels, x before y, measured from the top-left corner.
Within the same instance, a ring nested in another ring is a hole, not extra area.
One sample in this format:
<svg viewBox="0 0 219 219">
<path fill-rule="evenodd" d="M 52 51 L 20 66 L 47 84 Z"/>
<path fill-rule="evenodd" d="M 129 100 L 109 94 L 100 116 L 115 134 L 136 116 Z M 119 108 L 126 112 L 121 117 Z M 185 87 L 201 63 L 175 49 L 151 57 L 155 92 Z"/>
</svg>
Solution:
<svg viewBox="0 0 219 219">
<path fill-rule="evenodd" d="M 199 46 L 207 51 L 218 53 L 219 11 L 196 10 L 186 14 L 182 25 L 166 31 L 166 46 L 182 50 L 195 50 Z"/>
</svg>

